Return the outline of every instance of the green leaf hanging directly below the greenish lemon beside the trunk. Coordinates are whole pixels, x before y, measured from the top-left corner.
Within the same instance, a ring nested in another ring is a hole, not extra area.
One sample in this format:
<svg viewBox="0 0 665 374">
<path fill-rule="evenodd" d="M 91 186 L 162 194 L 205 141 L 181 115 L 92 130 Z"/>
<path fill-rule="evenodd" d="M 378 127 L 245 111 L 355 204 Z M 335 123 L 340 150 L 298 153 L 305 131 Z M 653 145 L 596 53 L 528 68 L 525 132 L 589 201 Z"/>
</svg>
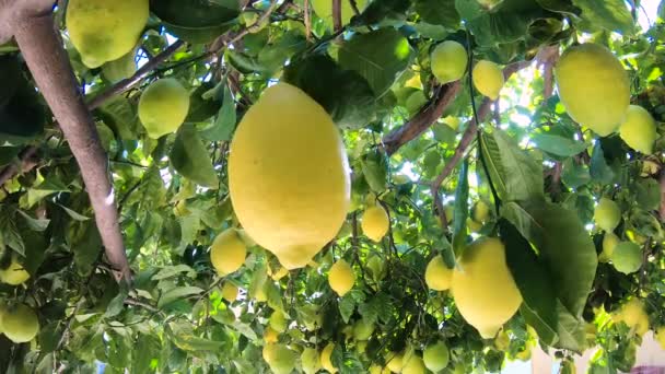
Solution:
<svg viewBox="0 0 665 374">
<path fill-rule="evenodd" d="M 210 155 L 192 126 L 183 125 L 168 155 L 173 167 L 196 184 L 217 188 L 218 178 Z"/>
</svg>

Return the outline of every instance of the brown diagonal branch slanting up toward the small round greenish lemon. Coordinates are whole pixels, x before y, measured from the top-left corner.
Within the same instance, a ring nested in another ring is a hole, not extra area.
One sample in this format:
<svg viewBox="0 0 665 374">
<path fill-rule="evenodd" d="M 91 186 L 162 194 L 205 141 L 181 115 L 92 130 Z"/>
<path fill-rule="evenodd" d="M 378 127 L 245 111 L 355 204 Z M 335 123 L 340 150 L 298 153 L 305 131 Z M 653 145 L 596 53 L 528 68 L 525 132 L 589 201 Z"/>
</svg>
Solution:
<svg viewBox="0 0 665 374">
<path fill-rule="evenodd" d="M 462 89 L 459 81 L 445 84 L 436 90 L 432 101 L 424 105 L 408 122 L 393 130 L 383 138 L 383 145 L 389 156 L 399 148 L 416 139 L 441 118 L 445 108 L 455 100 Z"/>
</svg>

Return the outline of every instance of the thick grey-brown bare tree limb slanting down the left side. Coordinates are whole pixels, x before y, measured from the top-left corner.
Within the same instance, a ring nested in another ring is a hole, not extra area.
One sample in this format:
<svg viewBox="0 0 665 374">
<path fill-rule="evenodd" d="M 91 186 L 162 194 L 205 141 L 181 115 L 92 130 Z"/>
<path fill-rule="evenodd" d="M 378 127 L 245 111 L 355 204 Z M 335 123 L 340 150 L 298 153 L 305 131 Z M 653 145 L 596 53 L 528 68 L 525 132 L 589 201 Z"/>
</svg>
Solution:
<svg viewBox="0 0 665 374">
<path fill-rule="evenodd" d="M 20 2 L 20 7 L 26 7 L 25 4 L 37 0 Z M 12 10 L 12 7 L 5 3 L 0 9 L 3 14 L 0 19 Z M 27 13 L 19 12 L 19 14 Z M 113 186 L 107 174 L 108 157 L 100 142 L 93 118 L 79 92 L 69 57 L 54 28 L 51 12 L 30 14 L 15 19 L 10 27 L 13 28 L 27 67 L 56 120 L 60 124 L 79 163 L 106 257 L 115 270 L 114 276 L 118 281 L 124 279 L 129 282 L 131 270 L 122 244 Z"/>
</svg>

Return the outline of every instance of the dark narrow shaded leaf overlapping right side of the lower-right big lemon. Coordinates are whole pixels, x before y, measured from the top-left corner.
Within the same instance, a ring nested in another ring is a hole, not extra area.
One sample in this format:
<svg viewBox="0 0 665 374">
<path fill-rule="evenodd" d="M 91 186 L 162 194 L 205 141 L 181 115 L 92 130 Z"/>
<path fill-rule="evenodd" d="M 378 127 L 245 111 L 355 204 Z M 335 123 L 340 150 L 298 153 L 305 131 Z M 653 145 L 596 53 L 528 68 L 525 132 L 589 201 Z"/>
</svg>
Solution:
<svg viewBox="0 0 665 374">
<path fill-rule="evenodd" d="M 505 219 L 499 220 L 499 232 L 505 245 L 508 266 L 524 300 L 523 311 L 528 309 L 525 318 L 541 341 L 552 344 L 557 340 L 557 294 L 549 269 Z"/>
</svg>

